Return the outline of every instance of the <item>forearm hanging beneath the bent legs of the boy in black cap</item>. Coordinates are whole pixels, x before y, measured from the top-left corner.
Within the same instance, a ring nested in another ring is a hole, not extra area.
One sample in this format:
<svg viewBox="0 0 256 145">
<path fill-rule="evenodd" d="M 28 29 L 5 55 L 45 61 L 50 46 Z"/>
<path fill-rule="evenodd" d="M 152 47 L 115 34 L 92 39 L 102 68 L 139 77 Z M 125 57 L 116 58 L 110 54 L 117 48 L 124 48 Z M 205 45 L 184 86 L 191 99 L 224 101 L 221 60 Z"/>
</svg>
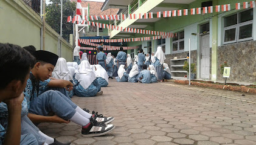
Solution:
<svg viewBox="0 0 256 145">
<path fill-rule="evenodd" d="M 52 123 L 69 123 L 68 120 L 63 120 L 63 118 L 58 117 L 57 115 L 54 116 L 42 116 L 42 115 L 36 115 L 36 114 L 27 114 L 27 117 L 33 122 L 33 123 L 43 123 L 43 122 L 52 122 Z"/>
</svg>

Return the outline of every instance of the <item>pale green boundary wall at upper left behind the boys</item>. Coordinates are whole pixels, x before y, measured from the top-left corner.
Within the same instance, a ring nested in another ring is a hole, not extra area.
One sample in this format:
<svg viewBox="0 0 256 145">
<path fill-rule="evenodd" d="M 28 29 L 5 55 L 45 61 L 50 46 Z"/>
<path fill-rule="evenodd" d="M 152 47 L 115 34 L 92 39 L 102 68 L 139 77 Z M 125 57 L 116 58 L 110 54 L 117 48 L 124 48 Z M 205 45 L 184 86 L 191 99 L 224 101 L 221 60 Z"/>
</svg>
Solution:
<svg viewBox="0 0 256 145">
<path fill-rule="evenodd" d="M 0 42 L 14 43 L 25 47 L 33 45 L 40 50 L 41 18 L 21 0 L 0 1 Z M 58 54 L 58 37 L 49 25 L 46 25 L 46 50 Z M 72 61 L 72 46 L 61 39 L 61 57 Z"/>
</svg>

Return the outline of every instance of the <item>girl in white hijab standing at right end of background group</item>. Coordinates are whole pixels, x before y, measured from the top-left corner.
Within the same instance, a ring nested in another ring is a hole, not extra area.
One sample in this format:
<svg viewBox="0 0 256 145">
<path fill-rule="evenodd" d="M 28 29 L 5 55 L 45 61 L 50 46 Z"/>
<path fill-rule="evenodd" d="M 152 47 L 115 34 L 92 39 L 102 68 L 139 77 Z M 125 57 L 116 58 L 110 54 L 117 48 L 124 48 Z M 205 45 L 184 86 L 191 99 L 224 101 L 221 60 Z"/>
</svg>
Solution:
<svg viewBox="0 0 256 145">
<path fill-rule="evenodd" d="M 164 54 L 164 51 L 162 51 L 162 47 L 157 47 L 157 51 L 156 51 L 156 54 L 154 54 L 154 56 L 155 56 L 154 58 L 156 59 L 156 62 L 154 62 L 154 66 L 158 74 L 158 80 L 162 82 L 163 80 L 162 74 L 164 71 L 163 63 L 165 60 L 165 54 Z"/>
</svg>

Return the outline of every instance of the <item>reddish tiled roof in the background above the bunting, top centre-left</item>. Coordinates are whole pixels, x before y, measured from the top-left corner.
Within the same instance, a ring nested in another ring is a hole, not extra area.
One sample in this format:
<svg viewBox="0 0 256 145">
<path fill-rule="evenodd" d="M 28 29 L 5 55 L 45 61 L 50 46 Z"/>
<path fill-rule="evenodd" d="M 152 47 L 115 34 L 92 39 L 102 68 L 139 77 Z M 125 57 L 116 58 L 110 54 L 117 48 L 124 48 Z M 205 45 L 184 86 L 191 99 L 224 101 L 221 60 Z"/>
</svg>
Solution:
<svg viewBox="0 0 256 145">
<path fill-rule="evenodd" d="M 77 2 L 77 0 L 71 0 L 71 2 Z M 102 8 L 102 5 L 104 2 L 94 2 L 94 1 L 81 1 L 82 7 L 88 7 L 88 4 L 90 5 L 89 13 L 90 15 L 109 15 L 109 14 L 117 14 L 119 11 L 119 8 L 109 8 L 108 10 L 102 11 L 100 10 Z"/>
</svg>

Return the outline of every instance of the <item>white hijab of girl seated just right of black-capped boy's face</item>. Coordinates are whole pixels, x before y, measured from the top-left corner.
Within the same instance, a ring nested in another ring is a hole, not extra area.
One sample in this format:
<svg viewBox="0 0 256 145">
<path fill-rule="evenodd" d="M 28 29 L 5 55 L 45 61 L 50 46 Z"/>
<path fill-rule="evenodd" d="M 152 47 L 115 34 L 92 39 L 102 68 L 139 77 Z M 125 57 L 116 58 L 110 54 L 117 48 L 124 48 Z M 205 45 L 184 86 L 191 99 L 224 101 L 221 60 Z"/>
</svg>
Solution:
<svg viewBox="0 0 256 145">
<path fill-rule="evenodd" d="M 54 71 L 52 72 L 52 77 L 61 80 L 73 80 L 73 76 L 71 76 L 71 72 L 67 68 L 67 62 L 64 58 L 59 58 Z"/>
</svg>

